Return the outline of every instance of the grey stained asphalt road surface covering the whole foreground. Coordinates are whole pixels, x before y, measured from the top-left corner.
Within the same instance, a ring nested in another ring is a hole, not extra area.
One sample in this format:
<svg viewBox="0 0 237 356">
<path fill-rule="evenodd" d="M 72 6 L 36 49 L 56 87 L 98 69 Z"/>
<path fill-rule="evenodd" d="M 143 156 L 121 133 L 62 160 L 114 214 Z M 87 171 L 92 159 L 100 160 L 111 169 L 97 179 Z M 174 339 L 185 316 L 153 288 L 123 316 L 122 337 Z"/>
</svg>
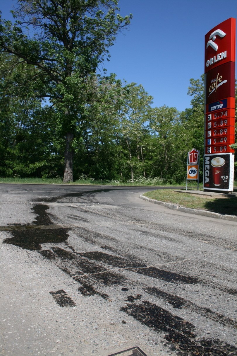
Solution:
<svg viewBox="0 0 237 356">
<path fill-rule="evenodd" d="M 151 189 L 0 184 L 1 356 L 237 354 L 237 223 Z"/>
</svg>

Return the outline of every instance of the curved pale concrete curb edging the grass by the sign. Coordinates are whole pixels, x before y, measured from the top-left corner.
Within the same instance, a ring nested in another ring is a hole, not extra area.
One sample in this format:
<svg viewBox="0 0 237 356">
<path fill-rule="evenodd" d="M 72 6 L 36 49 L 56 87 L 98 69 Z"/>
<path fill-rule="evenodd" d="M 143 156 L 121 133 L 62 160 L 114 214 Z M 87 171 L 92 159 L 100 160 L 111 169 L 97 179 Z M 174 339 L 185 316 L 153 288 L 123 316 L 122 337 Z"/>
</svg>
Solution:
<svg viewBox="0 0 237 356">
<path fill-rule="evenodd" d="M 182 211 L 182 213 L 208 216 L 209 218 L 215 218 L 215 219 L 237 221 L 236 215 L 226 215 L 226 214 L 213 213 L 212 211 L 185 208 L 184 206 L 179 206 L 178 204 L 165 203 L 164 201 L 150 199 L 150 198 L 145 197 L 144 195 L 140 195 L 139 198 L 149 201 L 150 203 L 153 203 L 153 204 L 165 206 L 168 209 Z"/>
</svg>

